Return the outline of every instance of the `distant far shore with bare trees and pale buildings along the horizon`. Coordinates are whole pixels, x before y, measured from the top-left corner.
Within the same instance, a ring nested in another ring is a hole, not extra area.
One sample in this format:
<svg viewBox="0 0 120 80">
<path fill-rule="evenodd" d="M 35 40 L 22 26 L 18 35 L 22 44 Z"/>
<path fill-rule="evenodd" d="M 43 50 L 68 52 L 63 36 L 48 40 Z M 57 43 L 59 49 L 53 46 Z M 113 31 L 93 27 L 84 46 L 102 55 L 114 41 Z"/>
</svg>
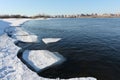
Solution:
<svg viewBox="0 0 120 80">
<path fill-rule="evenodd" d="M 120 18 L 120 14 L 113 13 L 104 13 L 104 14 L 60 14 L 60 15 L 46 15 L 46 14 L 38 14 L 34 16 L 27 15 L 0 15 L 0 19 L 8 19 L 8 18 L 22 18 L 22 19 L 48 19 L 48 18 Z"/>
</svg>

